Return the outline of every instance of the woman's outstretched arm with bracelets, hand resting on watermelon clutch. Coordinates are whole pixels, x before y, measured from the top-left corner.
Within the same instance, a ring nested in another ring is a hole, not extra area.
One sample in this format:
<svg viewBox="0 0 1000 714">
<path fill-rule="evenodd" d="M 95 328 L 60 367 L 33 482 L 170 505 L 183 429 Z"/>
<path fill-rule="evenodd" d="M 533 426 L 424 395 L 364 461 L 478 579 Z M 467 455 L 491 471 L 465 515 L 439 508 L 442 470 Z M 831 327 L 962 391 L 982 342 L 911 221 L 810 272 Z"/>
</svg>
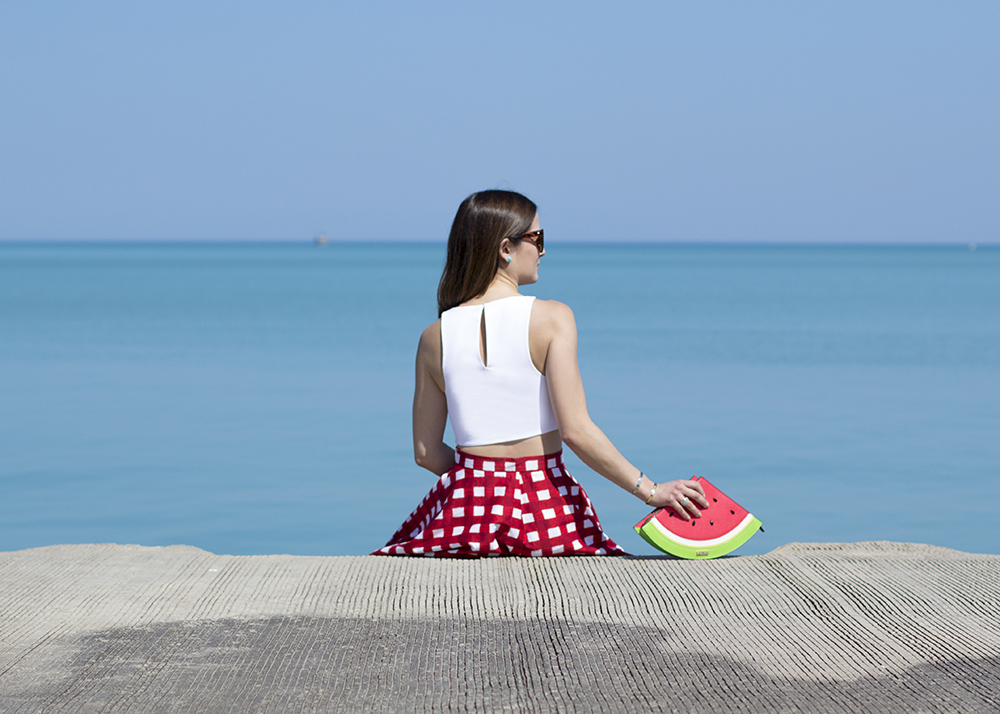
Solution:
<svg viewBox="0 0 1000 714">
<path fill-rule="evenodd" d="M 577 362 L 573 311 L 562 303 L 545 301 L 540 313 L 542 324 L 539 327 L 542 329 L 539 332 L 547 338 L 545 381 L 562 440 L 587 466 L 631 492 L 639 479 L 639 469 L 619 453 L 587 412 L 587 398 Z M 646 501 L 653 485 L 649 478 L 642 479 L 636 496 Z M 682 506 L 685 496 L 689 500 Z M 696 481 L 678 480 L 659 484 L 649 505 L 670 506 L 684 518 L 690 518 L 701 515 L 696 504 L 708 506 L 701 485 Z"/>
</svg>

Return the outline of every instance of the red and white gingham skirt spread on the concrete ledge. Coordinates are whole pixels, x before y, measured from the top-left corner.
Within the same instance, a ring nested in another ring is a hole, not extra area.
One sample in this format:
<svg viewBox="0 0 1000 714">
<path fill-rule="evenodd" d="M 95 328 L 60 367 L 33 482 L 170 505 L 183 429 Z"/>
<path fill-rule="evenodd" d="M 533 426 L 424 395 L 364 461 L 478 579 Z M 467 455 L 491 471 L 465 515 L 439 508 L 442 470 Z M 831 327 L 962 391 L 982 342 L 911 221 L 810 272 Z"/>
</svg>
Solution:
<svg viewBox="0 0 1000 714">
<path fill-rule="evenodd" d="M 624 555 L 608 538 L 562 451 L 496 459 L 455 453 L 384 548 L 372 555 Z"/>
</svg>

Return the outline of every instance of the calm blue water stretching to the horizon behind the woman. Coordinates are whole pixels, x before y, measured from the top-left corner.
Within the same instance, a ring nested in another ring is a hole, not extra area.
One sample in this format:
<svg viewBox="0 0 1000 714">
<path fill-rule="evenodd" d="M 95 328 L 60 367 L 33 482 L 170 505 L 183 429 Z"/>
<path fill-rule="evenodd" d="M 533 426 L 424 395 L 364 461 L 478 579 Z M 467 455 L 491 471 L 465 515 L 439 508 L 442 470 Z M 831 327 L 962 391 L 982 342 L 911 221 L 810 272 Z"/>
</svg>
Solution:
<svg viewBox="0 0 1000 714">
<path fill-rule="evenodd" d="M 0 245 L 0 550 L 361 554 L 411 460 L 442 245 Z M 1000 553 L 1000 249 L 553 245 L 591 415 L 760 517 L 740 553 Z M 605 528 L 642 504 L 570 455 Z"/>
</svg>

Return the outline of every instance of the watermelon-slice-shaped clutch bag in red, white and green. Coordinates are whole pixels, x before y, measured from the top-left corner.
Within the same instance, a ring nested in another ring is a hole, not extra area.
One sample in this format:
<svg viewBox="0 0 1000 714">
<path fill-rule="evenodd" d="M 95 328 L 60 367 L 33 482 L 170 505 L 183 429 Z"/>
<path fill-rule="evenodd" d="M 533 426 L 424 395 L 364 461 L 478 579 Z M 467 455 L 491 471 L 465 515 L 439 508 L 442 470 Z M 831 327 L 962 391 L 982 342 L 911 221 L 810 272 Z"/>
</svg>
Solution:
<svg viewBox="0 0 1000 714">
<path fill-rule="evenodd" d="M 701 518 L 685 521 L 672 508 L 658 508 L 635 524 L 636 532 L 650 545 L 678 558 L 708 559 L 732 553 L 760 529 L 753 514 L 710 484 L 695 476 L 708 499 Z"/>
</svg>

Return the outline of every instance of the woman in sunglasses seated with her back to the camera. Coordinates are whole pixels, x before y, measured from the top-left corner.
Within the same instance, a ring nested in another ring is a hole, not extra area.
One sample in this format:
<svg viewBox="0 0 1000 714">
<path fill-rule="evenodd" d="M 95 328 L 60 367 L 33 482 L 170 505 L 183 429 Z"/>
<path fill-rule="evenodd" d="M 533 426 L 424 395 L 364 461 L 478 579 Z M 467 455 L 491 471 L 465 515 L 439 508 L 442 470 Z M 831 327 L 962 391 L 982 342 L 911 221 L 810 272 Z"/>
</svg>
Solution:
<svg viewBox="0 0 1000 714">
<path fill-rule="evenodd" d="M 623 554 L 563 466 L 563 443 L 647 506 L 685 519 L 708 506 L 695 481 L 649 479 L 590 420 L 573 312 L 518 292 L 543 255 L 521 194 L 482 191 L 459 206 L 413 396 L 414 458 L 440 479 L 375 554 Z M 457 451 L 443 441 L 449 416 Z"/>
</svg>

